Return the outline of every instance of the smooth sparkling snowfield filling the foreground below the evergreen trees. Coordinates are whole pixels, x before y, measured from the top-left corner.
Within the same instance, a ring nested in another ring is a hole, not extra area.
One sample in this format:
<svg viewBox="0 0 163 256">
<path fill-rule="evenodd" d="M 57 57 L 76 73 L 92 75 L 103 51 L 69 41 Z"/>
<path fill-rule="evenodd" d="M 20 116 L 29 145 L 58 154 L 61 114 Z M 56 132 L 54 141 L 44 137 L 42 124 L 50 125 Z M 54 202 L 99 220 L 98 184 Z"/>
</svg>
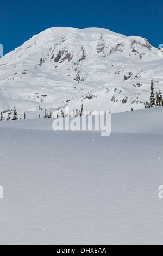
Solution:
<svg viewBox="0 0 163 256">
<path fill-rule="evenodd" d="M 112 114 L 109 137 L 1 122 L 0 245 L 162 245 L 161 117 Z"/>
</svg>

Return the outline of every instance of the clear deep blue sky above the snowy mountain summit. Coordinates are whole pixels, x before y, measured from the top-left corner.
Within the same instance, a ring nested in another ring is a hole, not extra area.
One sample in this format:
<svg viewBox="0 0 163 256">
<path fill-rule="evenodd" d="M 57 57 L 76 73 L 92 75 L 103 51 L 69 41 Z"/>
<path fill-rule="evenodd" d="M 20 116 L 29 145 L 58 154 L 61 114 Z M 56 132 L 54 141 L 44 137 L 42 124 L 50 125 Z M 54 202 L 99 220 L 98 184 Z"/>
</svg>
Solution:
<svg viewBox="0 0 163 256">
<path fill-rule="evenodd" d="M 162 0 L 5 0 L 0 8 L 4 54 L 50 27 L 102 27 L 163 44 Z"/>
</svg>

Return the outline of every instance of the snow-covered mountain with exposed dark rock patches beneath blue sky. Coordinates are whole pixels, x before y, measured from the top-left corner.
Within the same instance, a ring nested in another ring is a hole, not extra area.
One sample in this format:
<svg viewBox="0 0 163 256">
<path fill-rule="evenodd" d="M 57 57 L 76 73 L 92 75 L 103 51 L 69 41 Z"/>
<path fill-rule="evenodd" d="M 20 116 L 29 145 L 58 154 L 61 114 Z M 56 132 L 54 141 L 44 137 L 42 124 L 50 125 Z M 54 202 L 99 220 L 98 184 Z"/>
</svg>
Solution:
<svg viewBox="0 0 163 256">
<path fill-rule="evenodd" d="M 82 103 L 87 111 L 141 109 L 151 78 L 163 93 L 162 62 L 138 36 L 49 28 L 0 59 L 0 109 L 37 113 Z"/>
</svg>

